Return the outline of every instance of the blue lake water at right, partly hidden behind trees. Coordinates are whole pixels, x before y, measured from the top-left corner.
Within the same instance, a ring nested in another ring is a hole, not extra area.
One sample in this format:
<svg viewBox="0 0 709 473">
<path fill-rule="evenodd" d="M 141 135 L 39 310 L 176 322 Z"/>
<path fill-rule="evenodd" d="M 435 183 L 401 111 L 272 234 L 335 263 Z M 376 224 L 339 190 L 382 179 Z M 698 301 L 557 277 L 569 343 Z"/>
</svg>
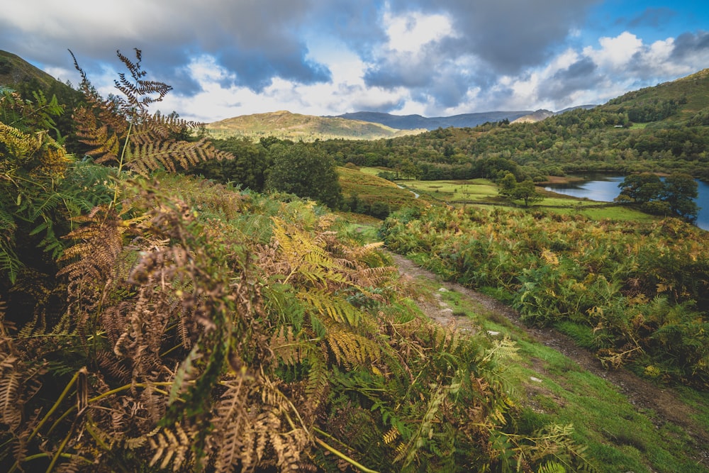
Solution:
<svg viewBox="0 0 709 473">
<path fill-rule="evenodd" d="M 583 174 L 584 181 L 571 184 L 547 184 L 547 191 L 564 194 L 566 196 L 579 197 L 579 199 L 590 199 L 592 201 L 613 202 L 618 197 L 620 189 L 618 184 L 623 182 L 625 176 L 610 174 Z M 709 230 L 709 184 L 697 180 L 698 197 L 695 200 L 700 207 L 697 215 L 697 226 L 703 230 Z"/>
</svg>

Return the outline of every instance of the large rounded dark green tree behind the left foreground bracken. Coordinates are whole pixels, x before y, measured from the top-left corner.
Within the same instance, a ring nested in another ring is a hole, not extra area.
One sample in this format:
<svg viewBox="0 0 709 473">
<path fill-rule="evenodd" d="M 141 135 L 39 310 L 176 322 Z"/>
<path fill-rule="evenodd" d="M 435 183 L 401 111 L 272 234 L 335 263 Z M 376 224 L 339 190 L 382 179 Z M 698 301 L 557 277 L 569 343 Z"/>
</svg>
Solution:
<svg viewBox="0 0 709 473">
<path fill-rule="evenodd" d="M 273 164 L 268 169 L 267 190 L 314 199 L 330 208 L 342 206 L 342 187 L 333 157 L 305 143 L 277 143 L 268 151 Z"/>
</svg>

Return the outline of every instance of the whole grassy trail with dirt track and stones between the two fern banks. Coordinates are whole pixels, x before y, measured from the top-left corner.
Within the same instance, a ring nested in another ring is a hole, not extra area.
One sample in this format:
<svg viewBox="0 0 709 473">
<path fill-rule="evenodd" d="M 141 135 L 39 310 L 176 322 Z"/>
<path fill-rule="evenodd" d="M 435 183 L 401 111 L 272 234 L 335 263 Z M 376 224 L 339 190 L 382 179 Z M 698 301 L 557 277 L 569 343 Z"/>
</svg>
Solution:
<svg viewBox="0 0 709 473">
<path fill-rule="evenodd" d="M 625 370 L 606 372 L 557 330 L 525 328 L 493 299 L 441 282 L 403 257 L 395 261 L 415 278 L 422 301 L 439 301 L 422 304 L 429 316 L 518 344 L 525 362 L 511 365 L 506 379 L 520 399 L 520 428 L 573 424 L 574 440 L 586 445 L 600 472 L 709 471 L 709 394 L 655 386 Z"/>
</svg>

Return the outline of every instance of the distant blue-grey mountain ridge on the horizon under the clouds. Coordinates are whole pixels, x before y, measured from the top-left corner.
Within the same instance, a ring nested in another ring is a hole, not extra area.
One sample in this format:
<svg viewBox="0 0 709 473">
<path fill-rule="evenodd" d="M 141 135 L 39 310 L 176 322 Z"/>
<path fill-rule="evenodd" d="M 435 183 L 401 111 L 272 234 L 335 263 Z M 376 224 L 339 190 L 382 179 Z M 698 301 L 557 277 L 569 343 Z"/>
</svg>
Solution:
<svg viewBox="0 0 709 473">
<path fill-rule="evenodd" d="M 530 113 L 532 113 L 531 110 L 489 111 L 481 113 L 462 113 L 461 115 L 452 116 L 425 117 L 420 115 L 391 115 L 391 113 L 358 111 L 353 113 L 343 113 L 342 115 L 337 115 L 337 117 L 347 118 L 350 120 L 381 123 L 382 125 L 391 126 L 391 128 L 398 128 L 399 130 L 413 130 L 417 128 L 435 130 L 437 128 L 448 128 L 450 126 L 454 128 L 472 128 L 487 122 L 495 123 L 503 120 L 513 121 Z"/>
</svg>

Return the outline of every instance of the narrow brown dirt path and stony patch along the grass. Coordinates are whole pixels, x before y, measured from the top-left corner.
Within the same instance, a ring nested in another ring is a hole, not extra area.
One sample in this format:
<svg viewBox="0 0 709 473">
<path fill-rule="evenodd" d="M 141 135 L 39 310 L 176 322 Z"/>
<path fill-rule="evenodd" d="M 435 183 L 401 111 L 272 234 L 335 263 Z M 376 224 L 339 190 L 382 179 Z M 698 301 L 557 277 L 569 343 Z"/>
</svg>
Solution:
<svg viewBox="0 0 709 473">
<path fill-rule="evenodd" d="M 499 301 L 479 292 L 468 289 L 460 284 L 442 282 L 432 272 L 429 272 L 411 260 L 407 260 L 401 255 L 389 253 L 393 257 L 399 272 L 408 277 L 423 277 L 435 280 L 438 284 L 450 291 L 456 291 L 467 297 L 469 300 L 481 305 L 486 311 L 496 316 L 504 316 L 520 330 L 530 335 L 535 341 L 552 347 L 569 357 L 579 366 L 596 374 L 598 377 L 608 380 L 608 382 L 618 386 L 618 390 L 625 394 L 630 402 L 638 410 L 649 409 L 657 413 L 662 422 L 669 422 L 679 425 L 683 430 L 694 438 L 697 445 L 702 448 L 702 458 L 700 460 L 709 467 L 709 433 L 698 425 L 693 418 L 691 406 L 679 401 L 679 396 L 672 389 L 665 389 L 650 384 L 637 377 L 627 369 L 605 369 L 601 362 L 591 352 L 576 346 L 574 340 L 552 328 L 531 328 L 520 321 L 520 316 L 513 308 L 501 304 Z M 450 308 L 445 308 L 436 302 L 418 301 L 421 310 L 433 320 L 442 325 L 454 325 L 459 330 L 476 330 L 476 325 L 467 317 L 454 316 Z"/>
</svg>

